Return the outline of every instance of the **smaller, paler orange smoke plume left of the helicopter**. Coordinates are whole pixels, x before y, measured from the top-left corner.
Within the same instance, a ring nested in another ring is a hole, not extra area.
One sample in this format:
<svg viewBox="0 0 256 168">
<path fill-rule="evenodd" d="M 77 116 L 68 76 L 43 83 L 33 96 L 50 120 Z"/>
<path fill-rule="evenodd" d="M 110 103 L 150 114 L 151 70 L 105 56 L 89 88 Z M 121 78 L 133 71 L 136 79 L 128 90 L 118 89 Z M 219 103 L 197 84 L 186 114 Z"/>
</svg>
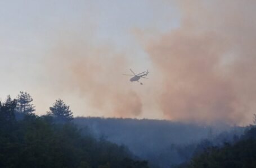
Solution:
<svg viewBox="0 0 256 168">
<path fill-rule="evenodd" d="M 84 38 L 84 37 L 83 37 Z M 59 82 L 57 90 L 78 93 L 83 106 L 101 111 L 104 116 L 140 116 L 140 96 L 128 85 L 125 53 L 115 52 L 111 46 L 89 44 L 77 36 L 58 41 L 48 61 L 51 78 Z M 129 72 L 128 72 L 129 73 Z M 74 100 L 79 97 L 74 97 Z M 83 111 L 84 116 L 88 111 Z M 91 111 L 90 111 L 90 114 Z"/>
</svg>

